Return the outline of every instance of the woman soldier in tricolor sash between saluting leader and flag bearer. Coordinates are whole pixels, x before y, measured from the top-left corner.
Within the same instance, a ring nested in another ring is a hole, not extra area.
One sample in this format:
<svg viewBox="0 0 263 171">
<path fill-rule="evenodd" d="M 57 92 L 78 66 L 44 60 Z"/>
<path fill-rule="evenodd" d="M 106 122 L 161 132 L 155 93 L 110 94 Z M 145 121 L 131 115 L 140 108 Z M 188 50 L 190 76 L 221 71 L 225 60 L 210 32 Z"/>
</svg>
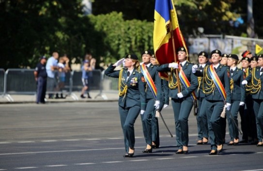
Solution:
<svg viewBox="0 0 263 171">
<path fill-rule="evenodd" d="M 155 108 L 159 109 L 161 101 L 161 78 L 156 70 L 157 66 L 151 64 L 152 52 L 145 50 L 141 54 L 142 63 L 140 71 L 144 76 L 146 92 L 146 110 L 141 111 L 143 134 L 146 140 L 146 148 L 142 153 L 152 153 L 155 142 L 152 140 L 152 118 Z"/>
</svg>

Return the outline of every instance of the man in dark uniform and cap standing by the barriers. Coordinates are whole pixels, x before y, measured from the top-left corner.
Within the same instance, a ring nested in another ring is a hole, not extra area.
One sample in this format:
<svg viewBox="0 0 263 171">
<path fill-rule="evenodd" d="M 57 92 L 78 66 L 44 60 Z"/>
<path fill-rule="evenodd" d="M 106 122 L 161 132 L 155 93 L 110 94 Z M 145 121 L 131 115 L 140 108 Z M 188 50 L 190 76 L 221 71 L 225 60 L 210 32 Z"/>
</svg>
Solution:
<svg viewBox="0 0 263 171">
<path fill-rule="evenodd" d="M 45 103 L 47 78 L 45 56 L 40 57 L 40 62 L 36 65 L 34 76 L 37 81 L 36 103 Z"/>
</svg>

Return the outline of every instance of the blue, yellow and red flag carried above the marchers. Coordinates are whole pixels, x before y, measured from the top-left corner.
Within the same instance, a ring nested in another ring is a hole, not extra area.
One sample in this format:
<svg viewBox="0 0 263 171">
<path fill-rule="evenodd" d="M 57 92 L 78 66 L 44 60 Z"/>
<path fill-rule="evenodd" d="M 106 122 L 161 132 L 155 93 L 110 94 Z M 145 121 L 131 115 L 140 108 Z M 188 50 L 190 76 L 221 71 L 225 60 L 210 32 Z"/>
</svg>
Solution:
<svg viewBox="0 0 263 171">
<path fill-rule="evenodd" d="M 186 48 L 186 43 L 179 28 L 173 1 L 155 0 L 154 51 L 159 63 L 174 62 L 174 54 L 182 46 Z"/>
</svg>

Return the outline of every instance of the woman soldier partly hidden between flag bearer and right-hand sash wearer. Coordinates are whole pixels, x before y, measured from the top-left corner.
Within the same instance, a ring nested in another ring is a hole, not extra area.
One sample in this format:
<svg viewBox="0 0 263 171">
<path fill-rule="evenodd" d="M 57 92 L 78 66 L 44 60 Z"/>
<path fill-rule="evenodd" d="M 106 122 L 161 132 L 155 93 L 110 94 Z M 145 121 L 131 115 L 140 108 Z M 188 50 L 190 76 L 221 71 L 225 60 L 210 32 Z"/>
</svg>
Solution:
<svg viewBox="0 0 263 171">
<path fill-rule="evenodd" d="M 204 67 L 207 65 L 208 61 L 208 54 L 207 52 L 201 51 L 198 54 L 198 70 L 201 72 L 203 71 Z M 198 77 L 198 87 L 195 90 L 195 94 L 197 97 L 197 106 L 198 112 L 196 115 L 197 120 L 197 130 L 198 130 L 198 141 L 197 145 L 206 144 L 208 142 L 208 126 L 207 126 L 207 119 L 206 119 L 206 109 L 205 109 L 205 99 L 204 93 L 202 90 L 203 86 L 203 77 Z"/>
</svg>

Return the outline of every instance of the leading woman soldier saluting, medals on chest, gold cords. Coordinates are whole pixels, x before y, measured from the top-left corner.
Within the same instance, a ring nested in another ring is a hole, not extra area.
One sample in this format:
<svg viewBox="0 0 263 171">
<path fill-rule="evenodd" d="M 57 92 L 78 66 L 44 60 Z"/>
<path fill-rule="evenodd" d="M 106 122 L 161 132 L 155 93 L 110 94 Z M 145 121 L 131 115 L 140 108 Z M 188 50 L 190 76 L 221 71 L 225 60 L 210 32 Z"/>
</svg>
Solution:
<svg viewBox="0 0 263 171">
<path fill-rule="evenodd" d="M 126 68 L 114 71 L 123 61 L 124 58 L 113 65 L 111 64 L 105 71 L 105 75 L 119 78 L 119 113 L 126 150 L 124 157 L 132 157 L 135 144 L 134 123 L 140 109 L 145 110 L 145 91 L 144 83 L 141 81 L 141 72 L 137 70 L 139 67 L 138 57 L 131 54 L 126 55 L 124 64 Z"/>
</svg>

